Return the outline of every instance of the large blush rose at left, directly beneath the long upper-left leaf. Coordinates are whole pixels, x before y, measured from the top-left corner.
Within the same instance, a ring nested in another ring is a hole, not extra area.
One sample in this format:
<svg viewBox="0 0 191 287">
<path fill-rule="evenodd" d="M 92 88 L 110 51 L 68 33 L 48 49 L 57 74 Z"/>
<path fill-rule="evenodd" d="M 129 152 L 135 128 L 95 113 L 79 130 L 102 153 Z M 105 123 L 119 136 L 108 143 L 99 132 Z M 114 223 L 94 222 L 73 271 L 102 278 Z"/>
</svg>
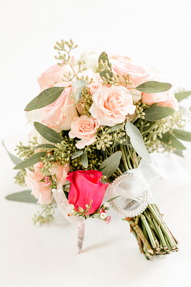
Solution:
<svg viewBox="0 0 191 287">
<path fill-rule="evenodd" d="M 41 108 L 44 114 L 42 123 L 57 132 L 69 130 L 71 122 L 78 115 L 76 108 L 73 106 L 74 100 L 70 99 L 72 89 L 72 87 L 65 88 L 54 103 Z"/>
</svg>

